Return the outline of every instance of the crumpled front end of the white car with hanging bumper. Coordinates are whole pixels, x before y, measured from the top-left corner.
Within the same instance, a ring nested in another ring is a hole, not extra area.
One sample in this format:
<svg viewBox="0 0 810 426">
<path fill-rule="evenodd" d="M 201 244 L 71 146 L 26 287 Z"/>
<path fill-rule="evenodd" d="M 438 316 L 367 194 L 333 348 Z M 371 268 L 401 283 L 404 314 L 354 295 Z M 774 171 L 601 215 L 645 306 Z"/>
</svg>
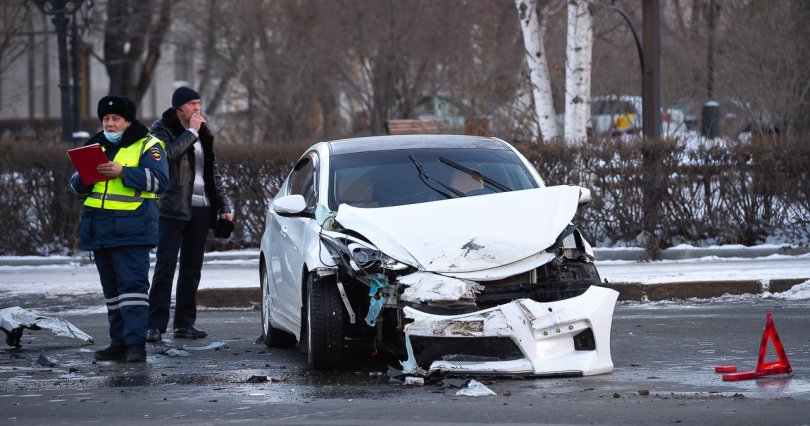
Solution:
<svg viewBox="0 0 810 426">
<path fill-rule="evenodd" d="M 535 191 L 552 194 L 556 201 L 574 193 L 570 188 Z M 494 201 L 508 209 L 510 202 L 533 202 L 532 195 L 501 194 Z M 485 197 L 477 198 L 480 203 Z M 385 215 L 382 209 L 373 210 Z M 430 217 L 440 226 L 449 223 L 437 211 Z M 597 286 L 593 251 L 567 222 L 572 210 L 547 218 L 555 236 L 549 238 L 546 232 L 524 239 L 509 225 L 492 225 L 496 229 L 489 235 L 479 230 L 431 238 L 435 230 L 413 235 L 418 232 L 408 228 L 392 236 L 382 231 L 395 233 L 391 223 L 380 219 L 383 216 L 348 208 L 343 213 L 330 218 L 321 233 L 334 261 L 334 267 L 322 273 L 337 275 L 354 329 L 400 353 L 406 373 L 544 376 L 612 371 L 610 329 L 618 293 Z M 426 223 L 419 214 L 412 209 L 384 217 L 401 215 L 401 222 L 415 217 Z M 501 233 L 509 238 L 500 238 Z M 428 248 L 415 249 L 416 241 Z M 431 251 L 437 241 L 448 241 L 458 250 Z M 518 249 L 507 250 L 501 241 L 513 241 Z M 519 249 L 530 244 L 543 248 L 532 253 Z"/>
</svg>

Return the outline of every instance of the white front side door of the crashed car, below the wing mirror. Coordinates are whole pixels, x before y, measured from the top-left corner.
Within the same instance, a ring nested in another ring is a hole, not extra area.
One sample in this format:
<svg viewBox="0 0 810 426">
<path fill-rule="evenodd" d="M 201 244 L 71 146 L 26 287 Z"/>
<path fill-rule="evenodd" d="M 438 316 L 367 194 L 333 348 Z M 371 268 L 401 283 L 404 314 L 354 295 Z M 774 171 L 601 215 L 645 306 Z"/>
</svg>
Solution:
<svg viewBox="0 0 810 426">
<path fill-rule="evenodd" d="M 317 200 L 316 175 L 318 156 L 311 152 L 295 165 L 287 179 L 284 195 L 300 194 L 307 202 L 307 208 L 314 208 Z M 285 217 L 271 213 L 272 232 L 276 238 L 270 241 L 271 279 L 273 280 L 273 310 L 278 314 L 278 325 L 290 331 L 297 331 L 301 314 L 301 282 L 304 268 L 304 250 L 307 241 L 318 238 L 309 235 L 307 217 Z"/>
</svg>

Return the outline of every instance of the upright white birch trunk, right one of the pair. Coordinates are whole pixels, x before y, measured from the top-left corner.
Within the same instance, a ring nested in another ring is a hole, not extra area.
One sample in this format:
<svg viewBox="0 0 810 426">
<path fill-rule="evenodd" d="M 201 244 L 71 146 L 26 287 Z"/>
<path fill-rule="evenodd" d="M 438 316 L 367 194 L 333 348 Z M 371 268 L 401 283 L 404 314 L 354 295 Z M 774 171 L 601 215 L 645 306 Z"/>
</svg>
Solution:
<svg viewBox="0 0 810 426">
<path fill-rule="evenodd" d="M 593 0 L 568 0 L 565 53 L 565 140 L 583 143 L 591 121 Z"/>
</svg>

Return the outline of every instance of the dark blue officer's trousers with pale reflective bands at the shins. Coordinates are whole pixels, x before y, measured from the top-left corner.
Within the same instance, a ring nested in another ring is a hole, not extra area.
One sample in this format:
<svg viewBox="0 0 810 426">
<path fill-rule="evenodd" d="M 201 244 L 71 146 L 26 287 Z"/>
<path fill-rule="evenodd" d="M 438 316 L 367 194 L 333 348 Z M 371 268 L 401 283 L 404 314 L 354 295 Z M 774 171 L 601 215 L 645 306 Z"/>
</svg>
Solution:
<svg viewBox="0 0 810 426">
<path fill-rule="evenodd" d="M 110 346 L 146 341 L 149 318 L 149 246 L 93 250 L 107 304 Z"/>
</svg>

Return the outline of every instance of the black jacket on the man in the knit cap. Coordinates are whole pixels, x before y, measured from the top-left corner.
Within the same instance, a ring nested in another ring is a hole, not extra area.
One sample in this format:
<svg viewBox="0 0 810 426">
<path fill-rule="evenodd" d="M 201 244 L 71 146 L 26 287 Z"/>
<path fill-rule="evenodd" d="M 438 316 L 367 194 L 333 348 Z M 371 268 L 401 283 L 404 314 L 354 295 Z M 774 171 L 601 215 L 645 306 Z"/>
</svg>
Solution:
<svg viewBox="0 0 810 426">
<path fill-rule="evenodd" d="M 177 118 L 174 108 L 163 112 L 163 117 L 152 124 L 151 133 L 166 144 L 169 158 L 169 188 L 160 197 L 160 215 L 179 220 L 191 220 L 191 194 L 194 191 L 194 142 L 197 137 L 186 130 Z M 217 170 L 214 156 L 214 136 L 205 126 L 200 127 L 200 143 L 205 161 L 203 180 L 205 194 L 211 202 L 209 226 L 213 227 L 220 213 L 231 213 L 231 199 L 225 191 L 225 183 Z"/>
</svg>

